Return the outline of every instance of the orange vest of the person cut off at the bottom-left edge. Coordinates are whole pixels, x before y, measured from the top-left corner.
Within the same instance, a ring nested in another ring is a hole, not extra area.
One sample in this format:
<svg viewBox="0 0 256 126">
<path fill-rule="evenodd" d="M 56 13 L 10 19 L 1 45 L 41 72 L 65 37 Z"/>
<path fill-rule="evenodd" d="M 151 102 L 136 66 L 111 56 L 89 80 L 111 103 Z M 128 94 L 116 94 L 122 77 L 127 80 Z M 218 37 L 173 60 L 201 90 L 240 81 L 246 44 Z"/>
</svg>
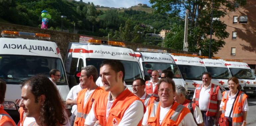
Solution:
<svg viewBox="0 0 256 126">
<path fill-rule="evenodd" d="M 16 123 L 13 121 L 12 117 L 4 110 L 4 106 L 0 106 L 0 115 L 2 118 L 0 118 L 0 126 L 3 126 L 4 123 L 10 122 L 13 126 L 16 126 Z"/>
</svg>

